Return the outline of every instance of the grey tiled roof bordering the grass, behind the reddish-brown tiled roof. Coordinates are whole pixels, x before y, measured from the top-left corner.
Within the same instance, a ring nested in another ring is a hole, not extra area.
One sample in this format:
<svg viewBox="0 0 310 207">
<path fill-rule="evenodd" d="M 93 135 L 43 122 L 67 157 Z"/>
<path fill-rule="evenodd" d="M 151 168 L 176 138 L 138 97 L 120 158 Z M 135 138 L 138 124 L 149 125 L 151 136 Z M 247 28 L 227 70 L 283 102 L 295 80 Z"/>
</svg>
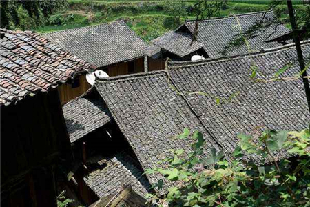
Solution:
<svg viewBox="0 0 310 207">
<path fill-rule="evenodd" d="M 44 34 L 44 37 L 97 67 L 143 57 L 147 47 L 124 21 Z"/>
</svg>

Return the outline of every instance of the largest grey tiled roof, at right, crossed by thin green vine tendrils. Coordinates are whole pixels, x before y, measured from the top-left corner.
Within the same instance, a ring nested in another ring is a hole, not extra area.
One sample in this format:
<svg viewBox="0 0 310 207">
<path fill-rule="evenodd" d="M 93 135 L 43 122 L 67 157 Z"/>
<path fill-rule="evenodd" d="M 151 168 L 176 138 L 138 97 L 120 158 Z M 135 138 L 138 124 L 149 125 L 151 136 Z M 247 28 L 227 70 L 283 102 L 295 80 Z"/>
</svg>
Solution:
<svg viewBox="0 0 310 207">
<path fill-rule="evenodd" d="M 304 43 L 302 50 L 309 59 L 310 42 Z M 173 82 L 181 93 L 187 94 L 189 105 L 203 124 L 231 152 L 238 141 L 236 135 L 249 133 L 256 126 L 301 130 L 310 123 L 301 79 L 266 83 L 250 78 L 253 67 L 258 78 L 266 80 L 274 78 L 288 63 L 293 66 L 280 77 L 293 77 L 300 70 L 293 45 L 216 61 L 170 63 L 168 68 Z M 227 103 L 217 105 L 215 97 L 227 99 Z"/>
</svg>

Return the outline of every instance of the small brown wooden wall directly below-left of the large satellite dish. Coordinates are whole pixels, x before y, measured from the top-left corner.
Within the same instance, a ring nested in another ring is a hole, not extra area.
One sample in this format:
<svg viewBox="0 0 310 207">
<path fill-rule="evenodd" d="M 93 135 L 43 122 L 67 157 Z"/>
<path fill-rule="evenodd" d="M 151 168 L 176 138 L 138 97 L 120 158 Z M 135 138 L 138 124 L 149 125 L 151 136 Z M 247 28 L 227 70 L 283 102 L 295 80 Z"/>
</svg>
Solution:
<svg viewBox="0 0 310 207">
<path fill-rule="evenodd" d="M 74 81 L 76 81 L 76 79 L 78 79 L 77 81 L 79 81 L 79 86 L 72 87 L 74 86 Z M 68 103 L 68 101 L 71 101 L 76 97 L 79 97 L 90 88 L 90 84 L 86 81 L 85 74 L 79 75 L 79 77 L 76 77 L 76 79 L 70 81 L 70 83 L 64 83 L 58 87 L 61 105 Z"/>
</svg>

